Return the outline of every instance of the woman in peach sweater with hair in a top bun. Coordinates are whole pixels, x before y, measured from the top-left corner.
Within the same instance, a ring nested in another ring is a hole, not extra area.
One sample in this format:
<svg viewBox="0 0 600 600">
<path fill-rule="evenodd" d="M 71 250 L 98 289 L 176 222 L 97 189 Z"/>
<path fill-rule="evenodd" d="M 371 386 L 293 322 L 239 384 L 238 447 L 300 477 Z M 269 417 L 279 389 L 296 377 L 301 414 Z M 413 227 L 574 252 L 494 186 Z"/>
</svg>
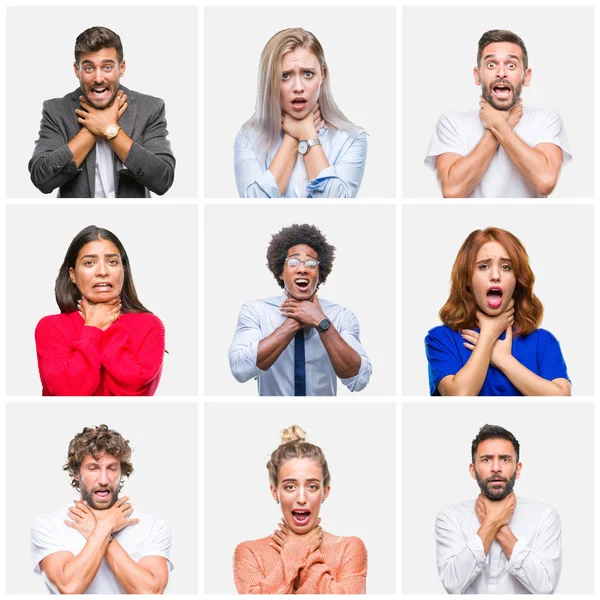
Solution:
<svg viewBox="0 0 600 600">
<path fill-rule="evenodd" d="M 267 464 L 282 519 L 271 536 L 235 550 L 240 594 L 364 594 L 367 551 L 357 537 L 324 531 L 319 513 L 329 495 L 327 461 L 297 425 L 281 432 Z"/>
</svg>

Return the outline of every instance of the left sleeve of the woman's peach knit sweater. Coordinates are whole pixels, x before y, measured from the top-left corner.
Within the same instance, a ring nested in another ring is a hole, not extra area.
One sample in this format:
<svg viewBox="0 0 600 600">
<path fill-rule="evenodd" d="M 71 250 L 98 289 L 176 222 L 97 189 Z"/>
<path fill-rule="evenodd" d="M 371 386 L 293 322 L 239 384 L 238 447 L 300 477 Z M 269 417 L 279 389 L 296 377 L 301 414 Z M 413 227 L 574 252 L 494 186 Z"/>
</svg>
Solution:
<svg viewBox="0 0 600 600">
<path fill-rule="evenodd" d="M 235 549 L 233 575 L 240 594 L 292 594 L 298 571 L 306 565 L 309 547 L 297 539 L 288 539 L 279 560 L 269 572 L 248 543 Z M 308 593 L 308 592 L 307 592 Z"/>
</svg>

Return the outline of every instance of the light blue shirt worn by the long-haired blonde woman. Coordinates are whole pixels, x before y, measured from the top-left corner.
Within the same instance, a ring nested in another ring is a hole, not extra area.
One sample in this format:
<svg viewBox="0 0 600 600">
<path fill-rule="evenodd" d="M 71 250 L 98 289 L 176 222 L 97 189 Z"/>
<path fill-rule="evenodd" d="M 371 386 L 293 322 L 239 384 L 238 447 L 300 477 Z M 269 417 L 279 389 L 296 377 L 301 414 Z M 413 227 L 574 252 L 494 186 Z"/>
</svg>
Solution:
<svg viewBox="0 0 600 600">
<path fill-rule="evenodd" d="M 329 162 L 317 177 L 308 180 L 304 158 L 298 154 L 283 198 L 354 198 L 358 194 L 367 160 L 367 134 L 355 137 L 341 129 L 323 127 L 318 133 Z M 281 139 L 266 154 L 261 151 L 258 134 L 242 127 L 235 138 L 235 181 L 240 198 L 281 198 L 269 165 Z"/>
</svg>

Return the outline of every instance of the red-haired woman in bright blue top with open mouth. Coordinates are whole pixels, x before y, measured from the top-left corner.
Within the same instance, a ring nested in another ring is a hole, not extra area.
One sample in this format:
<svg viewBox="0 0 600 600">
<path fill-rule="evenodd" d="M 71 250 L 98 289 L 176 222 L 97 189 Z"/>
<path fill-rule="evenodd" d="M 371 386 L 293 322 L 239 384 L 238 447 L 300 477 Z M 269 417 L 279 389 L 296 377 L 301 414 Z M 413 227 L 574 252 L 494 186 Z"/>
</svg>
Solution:
<svg viewBox="0 0 600 600">
<path fill-rule="evenodd" d="M 558 340 L 523 244 L 504 229 L 473 231 L 452 268 L 443 325 L 425 339 L 432 396 L 570 396 Z"/>
</svg>

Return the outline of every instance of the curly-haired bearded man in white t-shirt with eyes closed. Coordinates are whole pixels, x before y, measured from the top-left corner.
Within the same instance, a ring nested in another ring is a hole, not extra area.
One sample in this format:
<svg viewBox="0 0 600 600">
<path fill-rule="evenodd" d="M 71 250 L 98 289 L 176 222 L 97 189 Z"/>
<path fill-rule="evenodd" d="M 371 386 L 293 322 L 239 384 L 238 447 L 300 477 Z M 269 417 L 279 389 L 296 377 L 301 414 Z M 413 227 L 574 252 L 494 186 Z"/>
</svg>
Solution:
<svg viewBox="0 0 600 600">
<path fill-rule="evenodd" d="M 36 519 L 34 571 L 54 594 L 162 594 L 173 569 L 165 521 L 119 498 L 133 472 L 129 441 L 106 425 L 86 427 L 69 444 L 64 469 L 81 498 Z"/>
</svg>

